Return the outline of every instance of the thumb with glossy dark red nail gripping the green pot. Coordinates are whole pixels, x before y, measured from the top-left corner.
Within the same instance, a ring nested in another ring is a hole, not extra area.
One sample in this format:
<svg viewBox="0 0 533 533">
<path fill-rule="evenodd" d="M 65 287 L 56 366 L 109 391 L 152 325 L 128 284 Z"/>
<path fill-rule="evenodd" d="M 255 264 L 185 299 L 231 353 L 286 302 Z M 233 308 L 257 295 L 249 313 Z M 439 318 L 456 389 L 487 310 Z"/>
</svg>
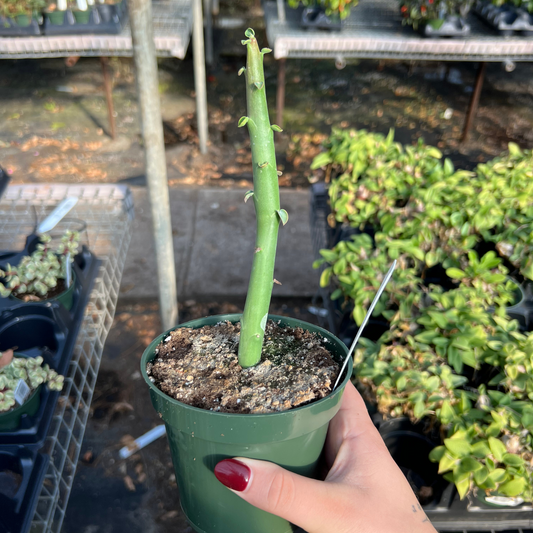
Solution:
<svg viewBox="0 0 533 533">
<path fill-rule="evenodd" d="M 343 505 L 333 483 L 294 474 L 267 461 L 224 459 L 215 476 L 248 503 L 308 532 L 330 531 L 335 509 Z"/>
</svg>

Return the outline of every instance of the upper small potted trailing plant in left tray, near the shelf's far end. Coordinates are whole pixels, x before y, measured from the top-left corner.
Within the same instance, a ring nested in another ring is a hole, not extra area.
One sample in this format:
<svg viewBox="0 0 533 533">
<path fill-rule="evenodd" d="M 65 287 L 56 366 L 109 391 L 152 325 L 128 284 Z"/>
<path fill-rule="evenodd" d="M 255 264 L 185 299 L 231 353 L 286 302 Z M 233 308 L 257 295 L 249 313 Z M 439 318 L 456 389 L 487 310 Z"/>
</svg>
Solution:
<svg viewBox="0 0 533 533">
<path fill-rule="evenodd" d="M 41 235 L 36 250 L 23 257 L 17 266 L 0 269 L 0 296 L 24 302 L 58 300 L 72 307 L 74 279 L 72 262 L 78 251 L 79 233 L 67 231 L 56 249 L 51 249 L 49 235 Z"/>
</svg>

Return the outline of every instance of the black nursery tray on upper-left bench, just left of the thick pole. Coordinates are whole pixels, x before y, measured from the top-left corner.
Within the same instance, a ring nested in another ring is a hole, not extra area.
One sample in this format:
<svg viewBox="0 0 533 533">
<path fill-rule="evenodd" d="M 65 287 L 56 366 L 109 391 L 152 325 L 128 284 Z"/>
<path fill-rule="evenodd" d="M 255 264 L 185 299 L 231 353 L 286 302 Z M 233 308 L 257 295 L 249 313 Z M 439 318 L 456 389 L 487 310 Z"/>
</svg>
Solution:
<svg viewBox="0 0 533 533">
<path fill-rule="evenodd" d="M 72 11 L 65 12 L 63 24 L 52 24 L 45 16 L 45 35 L 117 35 L 122 31 L 128 18 L 126 0 L 120 4 L 99 4 L 92 6 L 87 24 L 76 22 Z"/>
</svg>

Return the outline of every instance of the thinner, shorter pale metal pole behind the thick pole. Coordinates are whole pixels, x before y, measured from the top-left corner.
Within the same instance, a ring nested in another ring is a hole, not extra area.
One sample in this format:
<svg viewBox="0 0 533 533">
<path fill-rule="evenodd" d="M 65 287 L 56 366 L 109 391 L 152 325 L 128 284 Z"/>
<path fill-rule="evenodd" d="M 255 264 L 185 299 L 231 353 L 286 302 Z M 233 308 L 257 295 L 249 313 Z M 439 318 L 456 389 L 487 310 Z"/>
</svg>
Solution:
<svg viewBox="0 0 533 533">
<path fill-rule="evenodd" d="M 202 0 L 192 0 L 193 5 L 193 60 L 194 86 L 196 88 L 196 118 L 200 152 L 207 153 L 207 90 L 205 84 L 204 24 L 202 20 Z"/>
</svg>

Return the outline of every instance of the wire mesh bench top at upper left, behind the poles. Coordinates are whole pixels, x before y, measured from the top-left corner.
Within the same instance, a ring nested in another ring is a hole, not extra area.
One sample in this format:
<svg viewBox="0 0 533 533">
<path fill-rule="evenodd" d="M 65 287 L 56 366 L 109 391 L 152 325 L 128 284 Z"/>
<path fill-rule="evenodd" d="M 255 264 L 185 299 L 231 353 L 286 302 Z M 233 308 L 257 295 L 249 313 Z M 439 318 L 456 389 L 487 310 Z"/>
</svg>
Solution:
<svg viewBox="0 0 533 533">
<path fill-rule="evenodd" d="M 192 31 L 190 0 L 154 0 L 154 43 L 160 57 L 183 59 Z M 0 59 L 42 57 L 132 56 L 129 22 L 118 35 L 57 35 L 0 38 Z"/>
</svg>

